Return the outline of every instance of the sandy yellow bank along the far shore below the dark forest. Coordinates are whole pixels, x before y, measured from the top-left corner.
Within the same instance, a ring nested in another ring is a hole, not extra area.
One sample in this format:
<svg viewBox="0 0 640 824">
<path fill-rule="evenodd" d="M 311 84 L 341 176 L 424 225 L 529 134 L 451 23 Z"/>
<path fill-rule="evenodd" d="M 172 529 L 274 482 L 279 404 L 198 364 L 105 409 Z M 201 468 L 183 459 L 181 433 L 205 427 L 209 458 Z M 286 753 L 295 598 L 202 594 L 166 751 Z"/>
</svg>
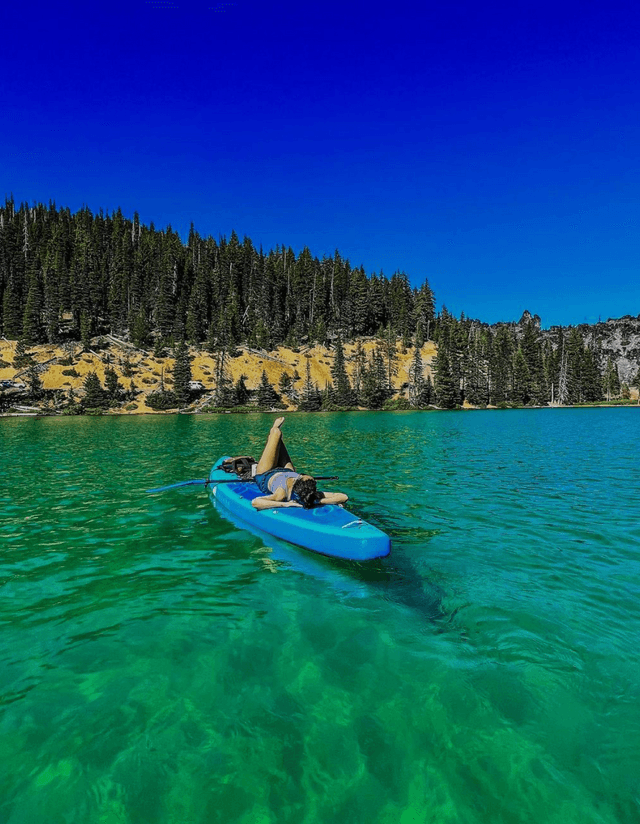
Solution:
<svg viewBox="0 0 640 824">
<path fill-rule="evenodd" d="M 358 369 L 358 353 L 360 357 L 369 358 L 379 343 L 375 338 L 361 338 L 355 342 L 343 344 L 344 361 L 347 375 L 354 385 L 356 370 Z M 0 339 L 0 397 L 3 396 L 7 411 L 0 412 L 0 417 L 62 417 L 70 415 L 72 398 L 75 403 L 84 396 L 84 381 L 90 372 L 94 372 L 105 384 L 107 370 L 116 373 L 119 383 L 119 397 L 111 408 L 87 411 L 90 416 L 112 415 L 176 415 L 176 414 L 227 414 L 242 415 L 256 412 L 267 414 L 282 412 L 297 412 L 298 405 L 303 397 L 307 377 L 316 390 L 323 390 L 332 382 L 332 371 L 335 361 L 335 349 L 330 345 L 301 346 L 294 349 L 280 346 L 273 351 L 254 349 L 247 345 L 239 345 L 228 356 L 225 363 L 226 380 L 233 386 L 238 381 L 244 381 L 251 393 L 256 393 L 262 376 L 273 387 L 280 386 L 281 405 L 278 407 L 252 408 L 248 405 L 221 408 L 215 405 L 214 390 L 216 385 L 216 358 L 211 353 L 189 348 L 190 365 L 194 383 L 198 384 L 198 396 L 189 407 L 183 409 L 154 409 L 147 405 L 147 397 L 156 393 L 159 388 L 171 389 L 173 384 L 174 358 L 168 352 L 155 355 L 153 352 L 138 349 L 126 341 L 116 338 L 94 338 L 90 349 L 82 349 L 76 342 L 65 344 L 38 344 L 28 348 L 29 357 L 36 367 L 38 376 L 46 397 L 42 401 L 30 400 L 25 391 L 24 381 L 27 363 L 21 366 L 14 363 L 16 357 L 16 341 Z M 635 406 L 640 403 L 638 390 L 631 390 L 629 399 L 614 401 L 597 401 L 588 404 L 574 404 L 567 406 L 516 406 L 505 404 L 500 406 L 473 406 L 465 402 L 457 409 L 442 409 L 435 405 L 427 407 L 411 407 L 408 400 L 410 383 L 410 368 L 414 357 L 413 347 L 403 347 L 399 339 L 396 340 L 394 354 L 394 372 L 391 376 L 392 396 L 385 402 L 386 408 L 370 409 L 367 407 L 345 408 L 336 405 L 335 409 L 313 410 L 314 412 L 378 412 L 378 411 L 479 411 L 482 409 L 574 409 L 595 407 Z M 436 345 L 433 341 L 426 341 L 421 347 L 423 374 L 425 379 L 434 379 L 434 360 Z M 287 378 L 290 389 L 282 389 L 282 381 Z M 255 394 L 254 394 L 255 397 Z M 77 408 L 77 407 L 76 407 Z M 304 414 L 309 414 L 304 411 Z"/>
</svg>

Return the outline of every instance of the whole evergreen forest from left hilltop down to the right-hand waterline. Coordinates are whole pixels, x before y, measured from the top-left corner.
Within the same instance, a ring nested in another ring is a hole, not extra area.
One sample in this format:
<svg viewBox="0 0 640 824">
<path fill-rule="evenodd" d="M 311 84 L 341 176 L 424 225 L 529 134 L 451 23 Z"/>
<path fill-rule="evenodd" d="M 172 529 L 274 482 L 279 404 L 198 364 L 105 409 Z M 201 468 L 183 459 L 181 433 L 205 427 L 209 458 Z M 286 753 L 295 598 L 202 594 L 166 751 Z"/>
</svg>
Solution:
<svg viewBox="0 0 640 824">
<path fill-rule="evenodd" d="M 299 375 L 294 388 L 306 408 L 379 408 L 394 396 L 444 408 L 615 399 L 638 380 L 640 357 L 640 317 L 542 330 L 527 312 L 489 326 L 444 306 L 436 314 L 427 280 L 412 287 L 403 272 L 366 273 L 338 251 L 322 259 L 307 248 L 264 251 L 235 232 L 203 238 L 193 226 L 184 243 L 137 214 L 13 200 L 0 207 L 0 331 L 19 341 L 20 359 L 36 344 L 76 340 L 89 350 L 107 334 L 158 358 L 184 342 L 215 361 L 219 406 L 249 399 L 228 378 L 240 344 L 328 347 L 331 381 L 303 386 Z M 375 346 L 345 356 L 343 344 L 365 336 Z M 434 385 L 425 340 L 437 345 Z M 397 385 L 395 361 L 409 351 L 407 380 Z M 188 400 L 183 393 L 181 405 Z"/>
</svg>

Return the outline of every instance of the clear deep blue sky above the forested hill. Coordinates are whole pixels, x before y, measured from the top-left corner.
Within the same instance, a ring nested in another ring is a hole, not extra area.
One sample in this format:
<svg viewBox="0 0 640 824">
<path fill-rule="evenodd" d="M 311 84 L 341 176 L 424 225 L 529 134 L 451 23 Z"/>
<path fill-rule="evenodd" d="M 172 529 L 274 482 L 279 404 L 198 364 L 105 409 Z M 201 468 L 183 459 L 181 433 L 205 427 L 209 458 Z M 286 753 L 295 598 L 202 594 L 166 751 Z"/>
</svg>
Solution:
<svg viewBox="0 0 640 824">
<path fill-rule="evenodd" d="M 3 3 L 0 195 L 640 313 L 637 3 Z"/>
</svg>

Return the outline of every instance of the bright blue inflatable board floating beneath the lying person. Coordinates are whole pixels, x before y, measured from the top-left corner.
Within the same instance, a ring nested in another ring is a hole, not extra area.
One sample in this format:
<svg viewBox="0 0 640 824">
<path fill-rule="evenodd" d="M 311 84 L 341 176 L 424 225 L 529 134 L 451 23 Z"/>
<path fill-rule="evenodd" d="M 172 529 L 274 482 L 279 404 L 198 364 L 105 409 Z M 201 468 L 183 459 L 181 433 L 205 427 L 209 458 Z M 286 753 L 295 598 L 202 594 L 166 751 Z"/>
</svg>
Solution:
<svg viewBox="0 0 640 824">
<path fill-rule="evenodd" d="M 221 469 L 224 460 L 226 456 L 211 469 L 211 494 L 220 506 L 248 526 L 332 558 L 370 561 L 384 558 L 391 551 L 388 535 L 335 504 L 312 509 L 254 509 L 251 501 L 262 493 L 253 481 L 233 481 L 232 476 Z"/>
</svg>

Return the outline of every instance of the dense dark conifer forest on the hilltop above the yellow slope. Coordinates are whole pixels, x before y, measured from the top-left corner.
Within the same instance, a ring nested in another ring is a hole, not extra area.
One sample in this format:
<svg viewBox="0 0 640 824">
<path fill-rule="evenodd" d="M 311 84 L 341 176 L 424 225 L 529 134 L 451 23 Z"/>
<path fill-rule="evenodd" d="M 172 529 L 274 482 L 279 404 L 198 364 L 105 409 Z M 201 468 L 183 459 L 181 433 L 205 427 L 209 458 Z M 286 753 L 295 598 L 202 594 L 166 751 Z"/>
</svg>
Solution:
<svg viewBox="0 0 640 824">
<path fill-rule="evenodd" d="M 27 343 L 128 334 L 141 347 L 185 340 L 211 349 L 324 343 L 375 334 L 390 323 L 408 341 L 435 320 L 427 281 L 412 287 L 353 267 L 338 251 L 319 259 L 229 239 L 186 243 L 118 209 L 76 213 L 54 203 L 0 207 L 0 329 Z M 69 320 L 70 318 L 70 320 Z"/>
</svg>

